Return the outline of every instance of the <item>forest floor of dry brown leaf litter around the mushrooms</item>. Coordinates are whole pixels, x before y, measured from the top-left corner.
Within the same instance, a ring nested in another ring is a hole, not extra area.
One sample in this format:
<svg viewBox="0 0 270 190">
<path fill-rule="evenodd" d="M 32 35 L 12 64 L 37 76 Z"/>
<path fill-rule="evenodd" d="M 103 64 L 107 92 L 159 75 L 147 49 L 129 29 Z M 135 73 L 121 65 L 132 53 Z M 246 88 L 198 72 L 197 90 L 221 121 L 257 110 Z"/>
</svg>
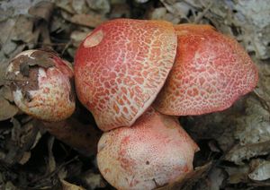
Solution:
<svg viewBox="0 0 270 190">
<path fill-rule="evenodd" d="M 269 0 L 6 0 L 0 4 L 0 189 L 113 189 L 96 167 L 96 144 L 102 133 L 91 114 L 77 101 L 73 124 L 91 127 L 92 144 L 87 153 L 76 151 L 14 105 L 4 71 L 12 57 L 33 48 L 53 49 L 73 63 L 82 39 L 114 18 L 211 24 L 237 39 L 259 70 L 257 88 L 231 108 L 179 118 L 201 151 L 195 154 L 193 175 L 161 189 L 270 188 Z"/>
</svg>

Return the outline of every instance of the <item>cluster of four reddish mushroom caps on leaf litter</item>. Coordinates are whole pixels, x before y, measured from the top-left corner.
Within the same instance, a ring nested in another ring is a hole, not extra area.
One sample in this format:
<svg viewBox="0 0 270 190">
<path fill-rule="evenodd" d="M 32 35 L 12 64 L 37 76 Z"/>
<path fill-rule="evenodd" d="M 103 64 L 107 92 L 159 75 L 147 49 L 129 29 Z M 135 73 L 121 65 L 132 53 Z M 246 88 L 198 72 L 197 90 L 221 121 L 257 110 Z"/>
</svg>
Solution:
<svg viewBox="0 0 270 190">
<path fill-rule="evenodd" d="M 118 189 L 154 189 L 192 172 L 199 147 L 177 117 L 229 108 L 258 80 L 244 48 L 209 25 L 131 19 L 91 32 L 74 76 L 78 99 L 104 132 L 98 168 Z M 72 77 L 66 61 L 40 50 L 16 56 L 6 73 L 15 104 L 49 123 L 73 113 Z"/>
</svg>

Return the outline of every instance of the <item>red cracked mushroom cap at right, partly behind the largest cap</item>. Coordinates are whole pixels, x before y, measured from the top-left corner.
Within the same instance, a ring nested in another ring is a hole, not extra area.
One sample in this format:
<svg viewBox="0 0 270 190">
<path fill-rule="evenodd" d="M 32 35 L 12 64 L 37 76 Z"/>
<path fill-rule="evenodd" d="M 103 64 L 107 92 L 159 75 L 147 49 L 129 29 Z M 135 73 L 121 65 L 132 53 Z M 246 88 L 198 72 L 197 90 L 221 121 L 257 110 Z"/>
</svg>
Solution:
<svg viewBox="0 0 270 190">
<path fill-rule="evenodd" d="M 175 30 L 175 65 L 153 104 L 158 111 L 173 116 L 220 111 L 256 87 L 257 67 L 235 39 L 209 25 L 181 24 Z"/>
</svg>

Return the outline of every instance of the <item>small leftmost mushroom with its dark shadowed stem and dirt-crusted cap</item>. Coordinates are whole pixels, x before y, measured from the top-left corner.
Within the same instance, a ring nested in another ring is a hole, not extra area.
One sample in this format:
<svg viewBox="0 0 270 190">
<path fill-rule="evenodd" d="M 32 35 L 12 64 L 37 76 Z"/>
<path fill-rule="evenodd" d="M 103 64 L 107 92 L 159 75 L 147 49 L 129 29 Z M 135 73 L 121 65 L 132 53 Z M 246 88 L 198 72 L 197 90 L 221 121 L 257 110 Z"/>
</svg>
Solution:
<svg viewBox="0 0 270 190">
<path fill-rule="evenodd" d="M 76 105 L 70 63 L 51 51 L 27 50 L 11 60 L 5 79 L 10 82 L 16 106 L 40 119 L 50 134 L 85 154 L 93 150 L 89 145 L 92 127 L 66 120 Z"/>
</svg>

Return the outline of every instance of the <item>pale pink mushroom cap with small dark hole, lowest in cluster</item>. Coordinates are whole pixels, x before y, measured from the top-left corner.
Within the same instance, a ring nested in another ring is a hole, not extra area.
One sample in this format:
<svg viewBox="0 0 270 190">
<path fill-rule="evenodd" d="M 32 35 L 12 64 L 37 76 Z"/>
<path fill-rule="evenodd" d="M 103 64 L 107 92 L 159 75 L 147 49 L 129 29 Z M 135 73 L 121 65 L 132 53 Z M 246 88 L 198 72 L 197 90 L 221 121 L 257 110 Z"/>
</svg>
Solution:
<svg viewBox="0 0 270 190">
<path fill-rule="evenodd" d="M 117 189 L 153 189 L 192 171 L 198 149 L 175 117 L 149 108 L 134 125 L 103 134 L 97 165 Z"/>
</svg>

